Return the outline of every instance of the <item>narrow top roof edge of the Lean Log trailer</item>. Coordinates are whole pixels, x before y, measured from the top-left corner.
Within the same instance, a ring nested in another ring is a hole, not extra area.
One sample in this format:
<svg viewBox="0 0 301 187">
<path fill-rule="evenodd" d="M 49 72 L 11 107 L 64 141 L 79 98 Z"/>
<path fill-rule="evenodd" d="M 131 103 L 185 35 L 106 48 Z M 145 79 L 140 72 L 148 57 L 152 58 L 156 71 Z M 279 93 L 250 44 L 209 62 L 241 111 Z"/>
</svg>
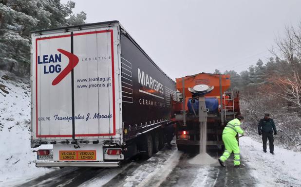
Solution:
<svg viewBox="0 0 301 187">
<path fill-rule="evenodd" d="M 58 32 L 70 32 L 70 30 L 82 30 L 82 29 L 89 29 L 93 28 L 99 28 L 99 26 L 103 27 L 112 27 L 115 24 L 118 24 L 118 26 L 121 28 L 121 31 L 123 31 L 123 34 L 127 36 L 133 44 L 151 61 L 151 63 L 158 68 L 167 78 L 169 78 L 170 81 L 175 83 L 174 80 L 172 80 L 161 68 L 158 67 L 156 63 L 153 62 L 151 57 L 138 45 L 138 43 L 132 38 L 132 36 L 124 29 L 124 27 L 120 24 L 118 20 L 113 20 L 113 21 L 104 21 L 104 22 L 97 22 L 97 23 L 87 23 L 87 24 L 82 24 L 82 25 L 74 25 L 74 26 L 66 26 L 66 27 L 59 27 L 56 29 L 47 29 L 47 30 L 38 30 L 38 31 L 32 31 L 31 34 L 39 34 L 39 35 L 45 35 L 45 34 L 53 34 L 53 33 L 58 33 Z"/>
</svg>

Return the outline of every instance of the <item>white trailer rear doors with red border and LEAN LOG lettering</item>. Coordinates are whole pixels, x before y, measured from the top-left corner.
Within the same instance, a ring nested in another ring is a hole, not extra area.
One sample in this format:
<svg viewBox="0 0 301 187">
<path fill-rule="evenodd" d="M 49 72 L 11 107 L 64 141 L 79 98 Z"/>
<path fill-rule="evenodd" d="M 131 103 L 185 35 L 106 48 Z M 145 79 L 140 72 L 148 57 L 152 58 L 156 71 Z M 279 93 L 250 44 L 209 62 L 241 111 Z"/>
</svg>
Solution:
<svg viewBox="0 0 301 187">
<path fill-rule="evenodd" d="M 33 34 L 33 139 L 120 136 L 117 29 Z"/>
</svg>

